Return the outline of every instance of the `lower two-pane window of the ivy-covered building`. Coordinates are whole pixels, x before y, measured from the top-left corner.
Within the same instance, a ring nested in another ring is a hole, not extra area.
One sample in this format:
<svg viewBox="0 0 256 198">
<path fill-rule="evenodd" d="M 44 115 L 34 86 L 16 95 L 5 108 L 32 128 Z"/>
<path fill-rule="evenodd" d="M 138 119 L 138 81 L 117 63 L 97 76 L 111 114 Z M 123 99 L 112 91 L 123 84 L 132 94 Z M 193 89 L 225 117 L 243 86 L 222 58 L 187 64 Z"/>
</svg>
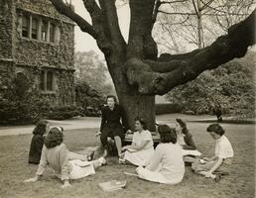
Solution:
<svg viewBox="0 0 256 198">
<path fill-rule="evenodd" d="M 43 70 L 40 73 L 40 89 L 43 91 L 54 91 L 54 72 Z"/>
</svg>

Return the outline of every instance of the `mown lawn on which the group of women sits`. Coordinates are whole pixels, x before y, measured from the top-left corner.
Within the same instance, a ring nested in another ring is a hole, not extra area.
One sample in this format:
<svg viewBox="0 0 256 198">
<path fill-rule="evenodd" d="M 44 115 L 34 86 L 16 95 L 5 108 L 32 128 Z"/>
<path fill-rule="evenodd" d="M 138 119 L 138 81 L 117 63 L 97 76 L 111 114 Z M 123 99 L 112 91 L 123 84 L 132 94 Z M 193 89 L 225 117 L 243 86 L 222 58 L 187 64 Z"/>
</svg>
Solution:
<svg viewBox="0 0 256 198">
<path fill-rule="evenodd" d="M 189 123 L 197 148 L 205 154 L 211 154 L 214 141 L 205 132 L 208 124 Z M 76 197 L 120 197 L 120 198 L 252 198 L 255 197 L 255 128 L 254 125 L 222 125 L 230 140 L 235 156 L 230 174 L 219 183 L 192 173 L 187 167 L 183 182 L 177 185 L 151 183 L 123 171 L 134 172 L 132 165 L 119 165 L 117 158 L 108 158 L 108 165 L 97 170 L 93 176 L 71 181 L 71 188 L 61 189 L 61 182 L 54 177 L 50 168 L 43 178 L 35 183 L 23 183 L 37 170 L 29 165 L 28 151 L 32 135 L 6 136 L 0 138 L 0 197 L 1 198 L 76 198 Z M 94 136 L 95 130 L 73 130 L 64 132 L 64 143 L 70 150 L 81 150 L 99 145 Z M 111 179 L 126 179 L 123 190 L 105 192 L 98 183 Z"/>
</svg>

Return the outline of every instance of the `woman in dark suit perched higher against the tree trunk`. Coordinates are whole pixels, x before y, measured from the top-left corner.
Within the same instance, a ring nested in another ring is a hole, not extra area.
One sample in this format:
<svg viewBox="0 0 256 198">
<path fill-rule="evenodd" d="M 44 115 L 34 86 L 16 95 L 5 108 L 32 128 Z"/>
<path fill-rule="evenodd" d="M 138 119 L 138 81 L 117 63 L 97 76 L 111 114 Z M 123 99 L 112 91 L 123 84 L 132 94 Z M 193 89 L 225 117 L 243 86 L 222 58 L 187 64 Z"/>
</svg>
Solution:
<svg viewBox="0 0 256 198">
<path fill-rule="evenodd" d="M 113 145 L 116 146 L 118 156 L 121 156 L 122 141 L 125 138 L 126 120 L 124 111 L 117 104 L 116 97 L 107 96 L 107 106 L 102 109 L 101 125 L 99 133 L 100 141 L 104 148 L 104 156 L 112 150 Z M 122 124 L 120 122 L 122 120 Z"/>
</svg>

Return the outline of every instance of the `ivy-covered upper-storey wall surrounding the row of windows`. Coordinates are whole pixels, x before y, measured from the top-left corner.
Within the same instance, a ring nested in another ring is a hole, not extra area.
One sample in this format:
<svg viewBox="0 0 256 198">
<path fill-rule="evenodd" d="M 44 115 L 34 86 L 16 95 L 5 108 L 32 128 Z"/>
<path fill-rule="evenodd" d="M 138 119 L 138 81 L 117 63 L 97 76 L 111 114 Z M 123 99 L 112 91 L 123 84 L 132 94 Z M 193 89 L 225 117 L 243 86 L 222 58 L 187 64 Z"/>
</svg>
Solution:
<svg viewBox="0 0 256 198">
<path fill-rule="evenodd" d="M 27 11 L 32 15 L 40 16 L 44 20 L 54 22 L 61 32 L 60 43 L 54 44 L 22 38 L 19 31 L 15 31 L 14 48 L 17 63 L 39 67 L 73 69 L 73 24 L 63 15 L 60 15 L 48 0 L 37 0 L 33 3 L 26 0 L 17 0 L 16 8 L 16 27 L 19 26 L 19 13 Z"/>
</svg>

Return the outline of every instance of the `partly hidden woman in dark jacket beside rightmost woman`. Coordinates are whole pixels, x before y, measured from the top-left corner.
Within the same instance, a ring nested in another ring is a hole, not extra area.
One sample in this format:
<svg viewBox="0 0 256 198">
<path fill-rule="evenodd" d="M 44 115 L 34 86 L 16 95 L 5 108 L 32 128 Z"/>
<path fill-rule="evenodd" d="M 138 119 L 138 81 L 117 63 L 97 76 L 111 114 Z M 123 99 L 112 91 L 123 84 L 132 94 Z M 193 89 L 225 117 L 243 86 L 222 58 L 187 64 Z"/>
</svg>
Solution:
<svg viewBox="0 0 256 198">
<path fill-rule="evenodd" d="M 192 162 L 191 157 L 199 156 L 201 153 L 196 149 L 186 123 L 182 119 L 176 119 L 177 142 L 184 149 L 185 161 Z M 187 157 L 188 156 L 188 157 Z"/>
</svg>

